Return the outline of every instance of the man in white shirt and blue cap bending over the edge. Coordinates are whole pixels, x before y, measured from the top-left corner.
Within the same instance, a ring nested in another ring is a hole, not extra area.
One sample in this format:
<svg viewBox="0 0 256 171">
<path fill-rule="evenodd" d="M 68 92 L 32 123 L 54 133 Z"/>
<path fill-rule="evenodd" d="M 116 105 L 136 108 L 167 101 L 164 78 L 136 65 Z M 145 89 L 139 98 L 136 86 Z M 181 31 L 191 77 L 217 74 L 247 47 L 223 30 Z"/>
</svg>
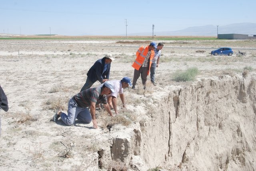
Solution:
<svg viewBox="0 0 256 171">
<path fill-rule="evenodd" d="M 132 86 L 131 79 L 129 77 L 124 77 L 122 80 L 110 80 L 114 84 L 114 93 L 112 92 L 108 96 L 108 104 L 110 105 L 110 108 L 114 108 L 114 111 L 116 114 L 118 114 L 117 110 L 117 97 L 118 93 L 120 95 L 120 99 L 123 103 L 123 107 L 126 108 L 125 100 L 124 100 L 124 89 L 128 86 Z"/>
</svg>

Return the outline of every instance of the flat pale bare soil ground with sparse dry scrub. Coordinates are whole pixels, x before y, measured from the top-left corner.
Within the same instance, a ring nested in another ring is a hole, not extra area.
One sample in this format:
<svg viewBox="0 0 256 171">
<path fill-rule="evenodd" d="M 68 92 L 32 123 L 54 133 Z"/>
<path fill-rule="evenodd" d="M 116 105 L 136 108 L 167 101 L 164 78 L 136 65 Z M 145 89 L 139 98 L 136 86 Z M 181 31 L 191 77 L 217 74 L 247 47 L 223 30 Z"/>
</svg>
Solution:
<svg viewBox="0 0 256 171">
<path fill-rule="evenodd" d="M 136 90 L 125 90 L 127 109 L 120 108 L 118 99 L 121 115 L 139 115 L 134 113 L 137 95 L 150 97 L 170 85 L 191 84 L 174 82 L 172 74 L 177 70 L 196 67 L 200 70 L 197 78 L 202 78 L 242 74 L 244 67 L 253 71 L 256 68 L 255 40 L 163 42 L 156 69 L 158 86 L 150 84 L 148 77 L 147 89 L 143 90 L 139 78 Z M 66 111 L 68 100 L 80 91 L 87 71 L 96 60 L 104 54 L 113 54 L 116 60 L 111 66 L 111 80 L 133 78 L 131 65 L 135 53 L 141 45 L 148 44 L 144 40 L 126 42 L 106 38 L 0 40 L 0 85 L 10 107 L 8 112 L 0 112 L 0 170 L 97 170 L 94 166 L 98 150 L 104 141 L 110 141 L 106 111 L 97 111 L 99 129 L 93 129 L 92 123 L 77 122 L 74 126 L 66 126 L 62 121 L 54 123 L 52 117 L 57 109 Z M 233 56 L 209 54 L 222 46 L 231 47 Z M 236 57 L 238 49 L 247 56 Z M 97 85 L 98 82 L 93 86 Z M 143 103 L 150 105 L 150 101 Z M 131 118 L 136 119 L 130 117 L 131 121 Z"/>
</svg>

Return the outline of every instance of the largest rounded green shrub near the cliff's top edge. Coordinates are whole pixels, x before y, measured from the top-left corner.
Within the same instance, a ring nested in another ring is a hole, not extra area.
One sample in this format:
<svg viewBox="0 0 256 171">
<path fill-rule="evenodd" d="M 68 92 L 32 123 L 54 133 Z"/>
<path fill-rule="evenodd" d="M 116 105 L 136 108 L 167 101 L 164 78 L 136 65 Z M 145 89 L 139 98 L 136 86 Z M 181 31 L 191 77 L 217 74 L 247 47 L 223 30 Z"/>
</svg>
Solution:
<svg viewBox="0 0 256 171">
<path fill-rule="evenodd" d="M 173 75 L 173 80 L 176 82 L 186 82 L 193 81 L 198 74 L 198 69 L 196 67 L 188 68 L 186 71 L 178 70 Z"/>
</svg>

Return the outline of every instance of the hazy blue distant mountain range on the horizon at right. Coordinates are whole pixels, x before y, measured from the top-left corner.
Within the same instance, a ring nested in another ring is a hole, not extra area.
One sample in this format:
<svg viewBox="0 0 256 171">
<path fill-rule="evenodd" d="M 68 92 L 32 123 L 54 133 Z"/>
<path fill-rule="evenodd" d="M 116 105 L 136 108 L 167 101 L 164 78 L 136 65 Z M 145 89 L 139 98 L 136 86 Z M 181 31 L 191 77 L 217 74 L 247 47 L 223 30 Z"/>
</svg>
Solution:
<svg viewBox="0 0 256 171">
<path fill-rule="evenodd" d="M 189 27 L 176 31 L 154 32 L 156 36 L 217 36 L 217 26 L 206 25 Z M 256 34 L 256 23 L 236 23 L 218 26 L 218 34 Z M 149 36 L 149 33 L 133 33 L 129 36 Z"/>
</svg>

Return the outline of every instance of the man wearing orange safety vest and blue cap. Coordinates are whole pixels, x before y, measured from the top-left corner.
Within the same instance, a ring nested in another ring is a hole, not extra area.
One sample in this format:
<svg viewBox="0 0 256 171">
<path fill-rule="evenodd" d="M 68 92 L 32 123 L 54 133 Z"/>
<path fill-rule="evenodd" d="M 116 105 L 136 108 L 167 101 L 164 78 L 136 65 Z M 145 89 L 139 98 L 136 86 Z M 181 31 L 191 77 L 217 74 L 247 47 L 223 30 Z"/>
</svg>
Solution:
<svg viewBox="0 0 256 171">
<path fill-rule="evenodd" d="M 156 48 L 156 43 L 151 42 L 150 45 L 146 46 L 145 48 L 144 46 L 141 46 L 136 52 L 137 58 L 132 64 L 132 67 L 134 68 L 132 89 L 135 89 L 136 82 L 140 76 L 144 89 L 146 89 L 147 76 L 150 71 L 152 59 L 155 55 L 154 49 Z"/>
</svg>

